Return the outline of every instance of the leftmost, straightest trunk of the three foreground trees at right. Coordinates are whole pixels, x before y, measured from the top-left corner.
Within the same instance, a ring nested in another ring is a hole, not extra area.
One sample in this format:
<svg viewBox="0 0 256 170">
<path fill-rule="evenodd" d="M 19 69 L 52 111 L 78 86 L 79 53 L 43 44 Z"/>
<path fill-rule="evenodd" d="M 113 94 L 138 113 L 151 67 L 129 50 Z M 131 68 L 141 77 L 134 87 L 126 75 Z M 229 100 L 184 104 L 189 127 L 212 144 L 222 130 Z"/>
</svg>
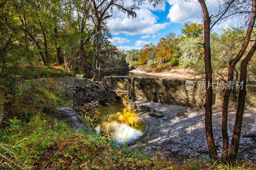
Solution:
<svg viewBox="0 0 256 170">
<path fill-rule="evenodd" d="M 210 48 L 210 24 L 211 19 L 204 0 L 198 0 L 204 13 L 204 63 L 205 63 L 205 134 L 209 150 L 209 156 L 213 160 L 217 160 L 217 151 L 214 144 L 212 132 L 212 64 L 211 64 L 211 48 Z M 210 85 L 210 86 L 209 86 Z"/>
</svg>

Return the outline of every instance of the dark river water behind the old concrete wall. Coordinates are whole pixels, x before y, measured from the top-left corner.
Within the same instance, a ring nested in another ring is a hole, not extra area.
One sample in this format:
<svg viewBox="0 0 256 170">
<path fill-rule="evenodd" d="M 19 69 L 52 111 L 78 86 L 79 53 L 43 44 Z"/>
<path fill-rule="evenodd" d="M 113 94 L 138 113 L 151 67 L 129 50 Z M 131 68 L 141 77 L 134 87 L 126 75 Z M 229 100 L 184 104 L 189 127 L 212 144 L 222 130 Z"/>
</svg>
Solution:
<svg viewBox="0 0 256 170">
<path fill-rule="evenodd" d="M 131 77 L 151 77 L 151 78 L 168 78 L 164 76 L 153 76 L 153 75 L 147 75 L 147 74 L 139 74 L 139 73 L 131 73 L 130 70 L 115 70 L 115 71 L 107 71 L 107 72 L 101 72 L 100 73 L 100 81 L 102 78 L 106 76 L 131 76 Z"/>
</svg>

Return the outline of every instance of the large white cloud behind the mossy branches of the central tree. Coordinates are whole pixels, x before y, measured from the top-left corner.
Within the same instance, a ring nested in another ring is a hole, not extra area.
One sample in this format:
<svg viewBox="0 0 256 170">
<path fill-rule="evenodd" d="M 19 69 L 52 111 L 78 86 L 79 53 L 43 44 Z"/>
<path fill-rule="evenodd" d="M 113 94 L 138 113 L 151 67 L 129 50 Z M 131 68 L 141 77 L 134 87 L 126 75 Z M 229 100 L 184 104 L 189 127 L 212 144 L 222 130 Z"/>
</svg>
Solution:
<svg viewBox="0 0 256 170">
<path fill-rule="evenodd" d="M 125 4 L 132 4 L 132 0 L 124 1 Z M 149 9 L 148 4 L 143 4 L 140 10 L 136 10 L 137 18 L 128 18 L 124 14 L 113 7 L 113 16 L 107 20 L 108 26 L 114 35 L 124 33 L 126 35 L 141 35 L 152 34 L 164 29 L 170 23 L 157 23 L 157 16 L 154 15 Z M 160 5 L 155 10 L 163 10 L 165 5 Z"/>
</svg>

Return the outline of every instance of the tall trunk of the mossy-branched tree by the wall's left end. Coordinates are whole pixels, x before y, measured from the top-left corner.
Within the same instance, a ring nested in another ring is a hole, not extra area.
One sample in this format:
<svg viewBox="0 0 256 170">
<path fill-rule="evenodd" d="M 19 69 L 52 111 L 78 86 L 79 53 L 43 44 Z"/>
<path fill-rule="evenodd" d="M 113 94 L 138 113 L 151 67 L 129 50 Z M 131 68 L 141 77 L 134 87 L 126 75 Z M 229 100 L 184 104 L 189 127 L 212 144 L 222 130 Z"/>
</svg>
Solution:
<svg viewBox="0 0 256 170">
<path fill-rule="evenodd" d="M 101 33 L 101 23 L 98 22 L 97 33 L 96 33 L 96 69 L 92 81 L 100 80 L 100 33 Z"/>
</svg>

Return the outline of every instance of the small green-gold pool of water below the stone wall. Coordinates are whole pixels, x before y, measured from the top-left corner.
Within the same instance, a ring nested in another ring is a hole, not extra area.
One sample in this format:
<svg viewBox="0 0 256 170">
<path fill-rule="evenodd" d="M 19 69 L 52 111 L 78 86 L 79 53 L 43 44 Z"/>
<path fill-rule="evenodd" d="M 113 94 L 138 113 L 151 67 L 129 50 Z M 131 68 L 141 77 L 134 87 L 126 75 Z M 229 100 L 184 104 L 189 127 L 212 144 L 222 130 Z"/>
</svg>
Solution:
<svg viewBox="0 0 256 170">
<path fill-rule="evenodd" d="M 113 138 L 115 144 L 123 144 L 142 136 L 146 129 L 146 124 L 137 119 L 137 114 L 116 102 L 82 115 L 90 116 L 97 133 Z"/>
</svg>

